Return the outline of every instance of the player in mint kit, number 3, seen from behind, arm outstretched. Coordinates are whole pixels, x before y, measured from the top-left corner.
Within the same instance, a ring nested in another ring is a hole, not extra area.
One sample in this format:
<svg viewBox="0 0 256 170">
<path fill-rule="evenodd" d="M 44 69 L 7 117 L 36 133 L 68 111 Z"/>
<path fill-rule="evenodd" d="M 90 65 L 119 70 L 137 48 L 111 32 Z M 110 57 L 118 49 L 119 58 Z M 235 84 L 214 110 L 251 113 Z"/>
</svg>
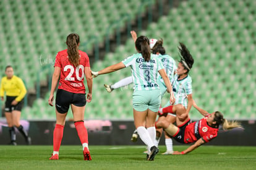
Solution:
<svg viewBox="0 0 256 170">
<path fill-rule="evenodd" d="M 170 100 L 173 98 L 171 82 L 164 70 L 163 64 L 158 56 L 150 53 L 150 42 L 147 36 L 139 36 L 135 41 L 135 47 L 138 51 L 124 61 L 106 67 L 98 72 L 92 72 L 94 77 L 100 74 L 108 74 L 124 67 L 130 66 L 132 69 L 132 79 L 134 80 L 133 108 L 134 124 L 142 141 L 148 147 L 147 160 L 153 161 L 158 153 L 158 148 L 154 145 L 156 137 L 155 119 L 156 113 L 160 108 L 161 96 L 160 88 L 157 82 L 158 72 L 163 77 L 167 91 L 171 93 Z M 145 128 L 147 119 L 147 129 Z"/>
</svg>

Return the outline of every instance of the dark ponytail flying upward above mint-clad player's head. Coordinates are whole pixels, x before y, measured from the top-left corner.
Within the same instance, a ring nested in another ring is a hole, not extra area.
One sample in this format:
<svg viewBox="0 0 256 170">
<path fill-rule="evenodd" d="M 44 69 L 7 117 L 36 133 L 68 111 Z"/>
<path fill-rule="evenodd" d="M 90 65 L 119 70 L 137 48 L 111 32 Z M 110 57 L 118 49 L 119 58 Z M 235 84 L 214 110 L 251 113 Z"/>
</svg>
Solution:
<svg viewBox="0 0 256 170">
<path fill-rule="evenodd" d="M 179 43 L 179 53 L 181 54 L 181 64 L 184 66 L 184 68 L 187 70 L 187 73 L 189 73 L 189 70 L 192 69 L 192 66 L 194 64 L 194 59 L 192 55 L 189 52 L 189 49 L 187 49 L 186 45 L 183 43 Z"/>
</svg>

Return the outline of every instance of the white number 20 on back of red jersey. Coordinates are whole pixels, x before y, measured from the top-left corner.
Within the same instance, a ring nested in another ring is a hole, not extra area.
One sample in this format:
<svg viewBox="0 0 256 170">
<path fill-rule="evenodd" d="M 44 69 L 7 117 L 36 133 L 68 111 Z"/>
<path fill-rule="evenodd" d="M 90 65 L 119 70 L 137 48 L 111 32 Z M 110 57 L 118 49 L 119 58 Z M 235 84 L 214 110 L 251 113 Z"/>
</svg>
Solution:
<svg viewBox="0 0 256 170">
<path fill-rule="evenodd" d="M 82 70 L 82 75 L 79 76 L 79 70 Z M 85 67 L 83 67 L 83 65 L 79 65 L 77 66 L 75 69 L 73 66 L 71 65 L 67 65 L 64 67 L 64 72 L 66 72 L 67 70 L 70 70 L 69 74 L 67 75 L 67 77 L 64 80 L 67 81 L 74 81 L 75 78 L 72 77 L 72 75 L 74 74 L 74 70 L 75 70 L 75 76 L 77 77 L 77 80 L 81 81 L 85 75 Z"/>
</svg>

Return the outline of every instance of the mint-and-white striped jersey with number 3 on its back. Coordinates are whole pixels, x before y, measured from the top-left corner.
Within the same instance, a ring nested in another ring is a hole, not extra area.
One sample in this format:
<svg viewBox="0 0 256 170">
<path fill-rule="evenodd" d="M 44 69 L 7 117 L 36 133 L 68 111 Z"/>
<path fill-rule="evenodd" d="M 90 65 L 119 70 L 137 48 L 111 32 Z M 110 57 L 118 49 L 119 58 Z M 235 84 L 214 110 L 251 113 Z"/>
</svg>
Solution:
<svg viewBox="0 0 256 170">
<path fill-rule="evenodd" d="M 127 57 L 122 63 L 126 67 L 130 66 L 132 70 L 134 91 L 159 89 L 158 70 L 164 69 L 164 67 L 157 55 L 151 54 L 150 61 L 147 62 L 141 53 L 137 53 Z"/>
</svg>

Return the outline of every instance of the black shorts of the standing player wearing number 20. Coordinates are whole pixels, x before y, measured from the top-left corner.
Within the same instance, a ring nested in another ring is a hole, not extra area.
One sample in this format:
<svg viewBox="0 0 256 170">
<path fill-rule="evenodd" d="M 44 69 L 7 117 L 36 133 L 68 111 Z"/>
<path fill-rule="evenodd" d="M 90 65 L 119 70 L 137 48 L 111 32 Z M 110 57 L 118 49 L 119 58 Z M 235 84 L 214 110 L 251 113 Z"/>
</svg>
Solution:
<svg viewBox="0 0 256 170">
<path fill-rule="evenodd" d="M 86 98 L 83 93 L 71 93 L 66 90 L 58 89 L 55 103 L 56 109 L 59 113 L 67 113 L 67 111 L 69 111 L 70 104 L 74 104 L 79 107 L 85 106 Z"/>
</svg>

